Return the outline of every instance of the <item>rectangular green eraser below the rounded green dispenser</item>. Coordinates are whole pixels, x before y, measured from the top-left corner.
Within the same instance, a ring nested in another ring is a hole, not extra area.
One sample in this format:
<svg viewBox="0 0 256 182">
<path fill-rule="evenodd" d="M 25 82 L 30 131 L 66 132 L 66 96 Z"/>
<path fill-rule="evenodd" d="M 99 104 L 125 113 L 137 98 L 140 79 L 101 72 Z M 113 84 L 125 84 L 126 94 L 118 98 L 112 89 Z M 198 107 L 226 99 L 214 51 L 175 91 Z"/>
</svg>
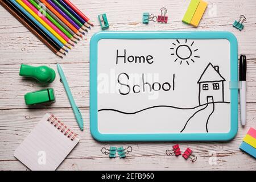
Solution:
<svg viewBox="0 0 256 182">
<path fill-rule="evenodd" d="M 36 92 L 27 93 L 25 96 L 26 105 L 43 104 L 46 102 L 54 102 L 55 94 L 52 88 L 43 89 Z"/>
</svg>

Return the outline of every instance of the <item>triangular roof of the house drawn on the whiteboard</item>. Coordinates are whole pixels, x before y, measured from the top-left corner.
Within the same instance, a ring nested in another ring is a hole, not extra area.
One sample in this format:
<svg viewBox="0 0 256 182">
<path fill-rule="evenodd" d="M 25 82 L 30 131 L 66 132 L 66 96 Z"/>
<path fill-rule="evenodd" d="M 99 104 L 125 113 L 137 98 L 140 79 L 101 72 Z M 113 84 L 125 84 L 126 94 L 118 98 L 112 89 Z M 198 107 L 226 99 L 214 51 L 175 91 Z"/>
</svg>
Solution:
<svg viewBox="0 0 256 182">
<path fill-rule="evenodd" d="M 218 71 L 213 67 L 212 63 L 209 63 L 204 69 L 204 72 L 200 76 L 197 84 L 202 82 L 218 82 L 225 81 L 225 78 L 220 75 Z"/>
</svg>

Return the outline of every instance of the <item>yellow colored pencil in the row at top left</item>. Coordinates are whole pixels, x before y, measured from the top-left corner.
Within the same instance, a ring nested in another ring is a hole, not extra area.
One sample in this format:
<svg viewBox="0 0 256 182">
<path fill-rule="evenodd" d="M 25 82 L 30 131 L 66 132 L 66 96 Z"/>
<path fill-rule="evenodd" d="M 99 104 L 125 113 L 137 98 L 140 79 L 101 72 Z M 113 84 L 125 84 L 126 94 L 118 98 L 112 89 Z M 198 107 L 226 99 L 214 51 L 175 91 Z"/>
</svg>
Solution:
<svg viewBox="0 0 256 182">
<path fill-rule="evenodd" d="M 35 14 L 34 11 L 32 11 L 25 3 L 23 3 L 22 0 L 16 0 L 16 2 L 18 2 L 19 5 L 22 6 L 26 11 L 28 11 L 28 13 L 30 13 L 32 16 L 34 16 L 34 18 L 36 20 L 38 20 L 38 22 L 43 24 L 43 26 L 46 27 L 47 30 L 49 30 L 57 39 L 59 39 L 61 43 L 63 43 L 65 46 L 71 48 L 69 46 L 69 44 L 67 43 L 67 41 L 65 41 L 59 34 L 57 34 L 57 32 L 55 30 L 53 30 L 50 26 L 48 26 L 48 24 L 46 22 L 44 22 L 37 14 Z"/>
</svg>

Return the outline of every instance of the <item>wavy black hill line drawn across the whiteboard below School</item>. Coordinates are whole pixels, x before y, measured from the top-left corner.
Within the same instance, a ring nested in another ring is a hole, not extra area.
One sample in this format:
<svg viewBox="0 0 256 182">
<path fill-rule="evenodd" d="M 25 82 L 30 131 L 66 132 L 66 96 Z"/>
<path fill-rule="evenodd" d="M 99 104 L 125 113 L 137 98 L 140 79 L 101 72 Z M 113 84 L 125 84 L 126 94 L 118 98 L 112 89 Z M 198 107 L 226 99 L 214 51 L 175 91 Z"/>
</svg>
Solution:
<svg viewBox="0 0 256 182">
<path fill-rule="evenodd" d="M 217 103 L 230 104 L 230 102 L 210 102 L 210 103 L 214 103 L 214 104 L 217 104 Z M 125 111 L 121 111 L 121 110 L 117 110 L 117 109 L 100 109 L 100 110 L 98 110 L 98 112 L 100 112 L 100 111 L 115 111 L 115 112 L 122 113 L 122 114 L 137 114 L 137 113 L 140 113 L 140 112 L 142 112 L 144 110 L 153 109 L 153 108 L 156 108 L 156 107 L 171 107 L 171 108 L 174 108 L 174 109 L 189 110 L 189 109 L 196 109 L 197 107 L 208 105 L 210 103 L 198 105 L 198 106 L 195 106 L 195 107 L 176 107 L 176 106 L 169 106 L 169 105 L 158 105 L 158 106 L 146 107 L 146 108 L 144 108 L 142 110 L 138 110 L 138 111 L 134 111 L 134 112 L 130 112 L 130 113 L 129 112 L 125 112 Z"/>
</svg>

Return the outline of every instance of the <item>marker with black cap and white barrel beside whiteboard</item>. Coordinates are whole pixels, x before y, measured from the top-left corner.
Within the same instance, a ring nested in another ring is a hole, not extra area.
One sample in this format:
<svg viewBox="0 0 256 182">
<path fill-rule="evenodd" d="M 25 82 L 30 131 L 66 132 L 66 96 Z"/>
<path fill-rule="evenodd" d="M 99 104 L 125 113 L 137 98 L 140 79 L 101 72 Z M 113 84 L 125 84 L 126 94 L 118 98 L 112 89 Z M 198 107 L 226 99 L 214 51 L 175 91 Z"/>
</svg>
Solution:
<svg viewBox="0 0 256 182">
<path fill-rule="evenodd" d="M 239 63 L 239 80 L 241 81 L 240 89 L 240 110 L 241 110 L 241 124 L 245 126 L 246 122 L 246 56 L 240 56 Z"/>
</svg>

